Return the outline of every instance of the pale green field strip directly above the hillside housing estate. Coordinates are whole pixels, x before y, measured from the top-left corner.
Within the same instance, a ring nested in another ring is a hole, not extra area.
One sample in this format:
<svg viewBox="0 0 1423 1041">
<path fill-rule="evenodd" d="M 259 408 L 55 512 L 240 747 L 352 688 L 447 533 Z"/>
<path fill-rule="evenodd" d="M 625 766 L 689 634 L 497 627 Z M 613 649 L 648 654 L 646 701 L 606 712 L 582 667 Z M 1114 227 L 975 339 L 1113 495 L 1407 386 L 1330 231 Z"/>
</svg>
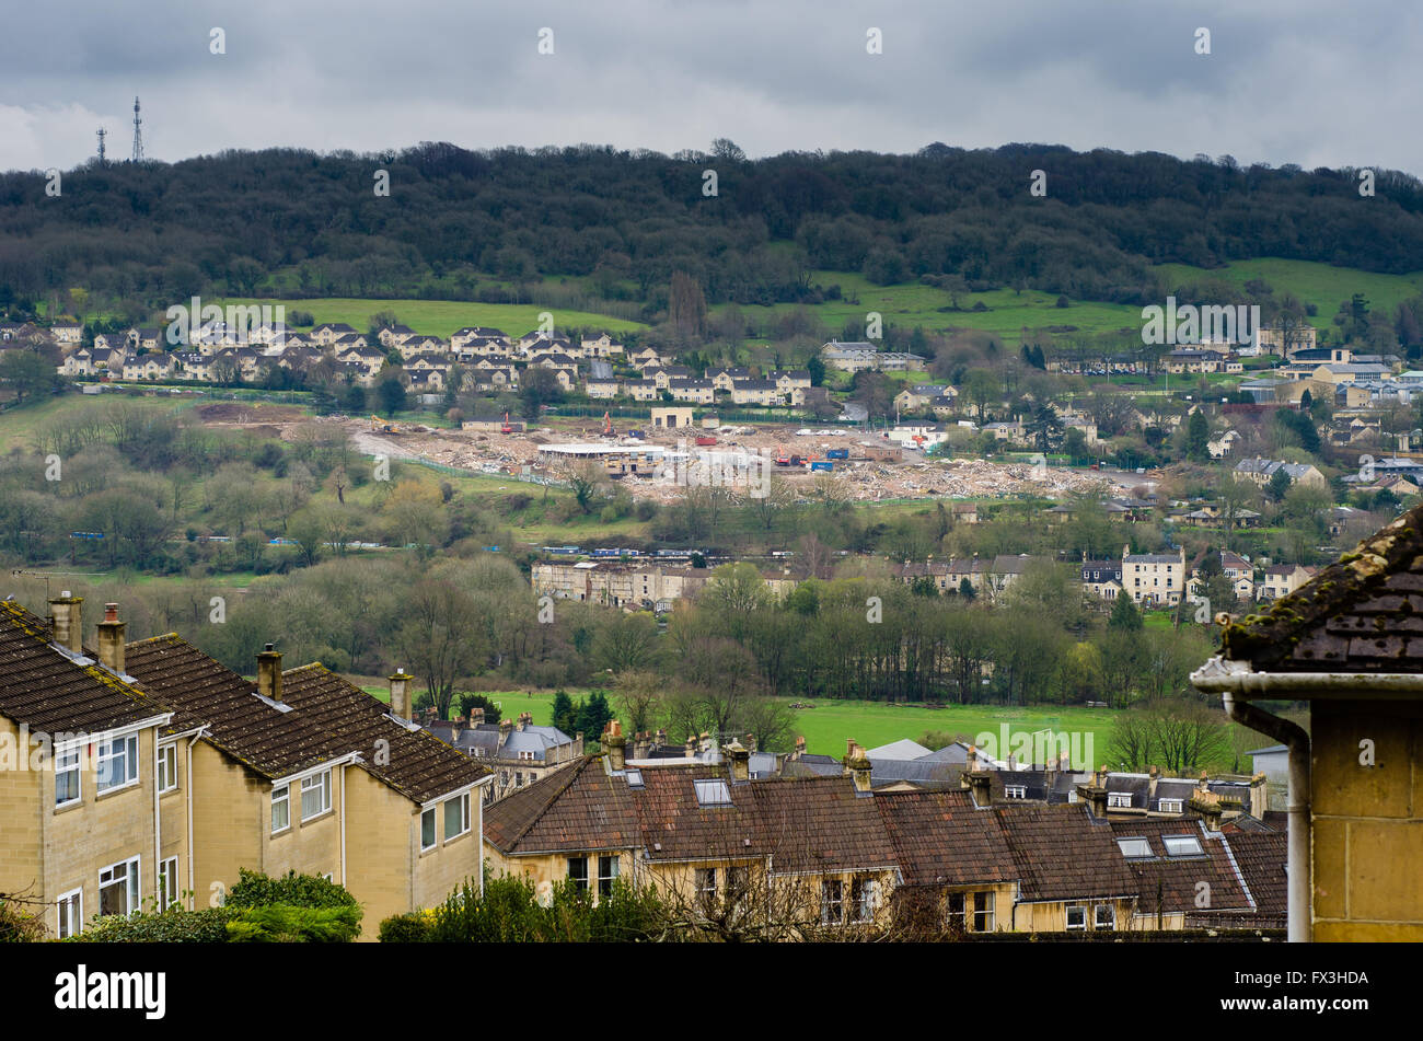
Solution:
<svg viewBox="0 0 1423 1041">
<path fill-rule="evenodd" d="M 592 311 L 568 311 L 538 304 L 482 304 L 464 300 L 363 300 L 357 297 L 319 297 L 312 300 L 273 300 L 273 299 L 231 299 L 218 300 L 221 307 L 228 304 L 282 304 L 287 317 L 293 310 L 310 313 L 316 323 L 344 321 L 364 334 L 367 321 L 376 311 L 394 311 L 396 317 L 417 333 L 425 336 L 448 337 L 457 329 L 465 326 L 492 326 L 509 336 L 522 336 L 538 326 L 539 311 L 552 310 L 554 331 L 565 327 L 598 329 L 609 333 L 630 333 L 643 329 L 636 321 L 625 321 L 606 314 Z M 290 324 L 290 323 L 289 323 Z M 300 333 L 305 330 L 295 329 Z"/>
</svg>

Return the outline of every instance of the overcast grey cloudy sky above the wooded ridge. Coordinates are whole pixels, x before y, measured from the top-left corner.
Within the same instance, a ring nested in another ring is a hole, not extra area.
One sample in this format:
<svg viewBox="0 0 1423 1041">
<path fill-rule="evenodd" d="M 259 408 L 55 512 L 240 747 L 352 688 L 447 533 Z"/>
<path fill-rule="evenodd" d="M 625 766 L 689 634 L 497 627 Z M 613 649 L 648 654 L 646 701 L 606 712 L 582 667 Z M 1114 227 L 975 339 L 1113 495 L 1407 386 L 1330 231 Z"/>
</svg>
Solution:
<svg viewBox="0 0 1423 1041">
<path fill-rule="evenodd" d="M 0 169 L 612 144 L 1047 142 L 1423 174 L 1417 0 L 114 0 L 0 17 Z M 225 31 L 226 54 L 209 50 Z M 539 54 L 539 30 L 554 54 Z M 867 53 L 867 31 L 882 54 Z M 1198 27 L 1211 53 L 1195 53 Z"/>
</svg>

